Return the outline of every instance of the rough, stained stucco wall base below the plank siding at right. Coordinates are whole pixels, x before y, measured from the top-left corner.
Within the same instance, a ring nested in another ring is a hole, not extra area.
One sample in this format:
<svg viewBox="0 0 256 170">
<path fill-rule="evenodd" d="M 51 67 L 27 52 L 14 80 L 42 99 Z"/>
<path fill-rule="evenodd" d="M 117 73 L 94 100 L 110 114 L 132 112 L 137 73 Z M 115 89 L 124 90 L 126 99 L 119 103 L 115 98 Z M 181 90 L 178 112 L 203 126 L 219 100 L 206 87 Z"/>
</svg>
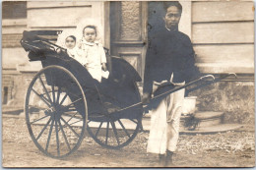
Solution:
<svg viewBox="0 0 256 170">
<path fill-rule="evenodd" d="M 224 123 L 254 123 L 254 83 L 221 82 L 190 93 L 199 111 L 224 112 Z"/>
</svg>

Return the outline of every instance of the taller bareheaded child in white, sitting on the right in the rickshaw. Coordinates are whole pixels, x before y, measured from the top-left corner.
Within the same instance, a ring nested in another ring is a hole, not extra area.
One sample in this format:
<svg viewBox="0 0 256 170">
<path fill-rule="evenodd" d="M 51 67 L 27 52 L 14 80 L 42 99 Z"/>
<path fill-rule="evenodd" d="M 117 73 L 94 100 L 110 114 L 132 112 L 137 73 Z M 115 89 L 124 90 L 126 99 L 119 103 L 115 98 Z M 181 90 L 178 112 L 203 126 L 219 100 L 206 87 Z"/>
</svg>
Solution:
<svg viewBox="0 0 256 170">
<path fill-rule="evenodd" d="M 106 57 L 102 45 L 96 41 L 96 26 L 83 28 L 83 37 L 78 43 L 79 61 L 82 63 L 96 81 L 107 78 L 109 72 L 106 68 Z"/>
</svg>

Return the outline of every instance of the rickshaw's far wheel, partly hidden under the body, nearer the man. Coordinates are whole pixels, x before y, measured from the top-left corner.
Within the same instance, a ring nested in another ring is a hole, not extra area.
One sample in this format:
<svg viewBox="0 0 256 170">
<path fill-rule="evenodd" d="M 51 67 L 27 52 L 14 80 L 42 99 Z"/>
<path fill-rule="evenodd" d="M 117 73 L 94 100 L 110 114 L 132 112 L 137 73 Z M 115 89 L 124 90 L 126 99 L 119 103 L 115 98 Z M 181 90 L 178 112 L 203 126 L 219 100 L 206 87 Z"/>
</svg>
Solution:
<svg viewBox="0 0 256 170">
<path fill-rule="evenodd" d="M 141 101 L 138 86 L 136 84 L 137 100 Z M 94 116 L 89 117 L 88 133 L 101 146 L 111 149 L 118 149 L 132 142 L 142 128 L 142 106 L 138 106 L 139 114 L 134 118 L 116 118 L 114 115 L 98 115 L 99 119 Z M 100 118 L 101 117 L 101 118 Z M 97 120 L 102 121 L 97 121 Z M 93 121 L 91 121 L 93 120 Z M 94 121 L 96 120 L 96 121 Z"/>
</svg>

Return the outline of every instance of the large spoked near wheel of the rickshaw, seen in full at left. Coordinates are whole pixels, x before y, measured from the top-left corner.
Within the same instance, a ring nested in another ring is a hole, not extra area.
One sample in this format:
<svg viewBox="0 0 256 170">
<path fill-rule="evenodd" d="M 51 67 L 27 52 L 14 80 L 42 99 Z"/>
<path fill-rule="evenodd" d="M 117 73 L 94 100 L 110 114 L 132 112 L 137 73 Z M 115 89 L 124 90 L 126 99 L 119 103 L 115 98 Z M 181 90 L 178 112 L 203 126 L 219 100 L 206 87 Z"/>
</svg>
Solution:
<svg viewBox="0 0 256 170">
<path fill-rule="evenodd" d="M 48 66 L 32 79 L 25 102 L 32 142 L 47 156 L 63 158 L 78 149 L 87 126 L 87 101 L 73 74 Z"/>
</svg>

